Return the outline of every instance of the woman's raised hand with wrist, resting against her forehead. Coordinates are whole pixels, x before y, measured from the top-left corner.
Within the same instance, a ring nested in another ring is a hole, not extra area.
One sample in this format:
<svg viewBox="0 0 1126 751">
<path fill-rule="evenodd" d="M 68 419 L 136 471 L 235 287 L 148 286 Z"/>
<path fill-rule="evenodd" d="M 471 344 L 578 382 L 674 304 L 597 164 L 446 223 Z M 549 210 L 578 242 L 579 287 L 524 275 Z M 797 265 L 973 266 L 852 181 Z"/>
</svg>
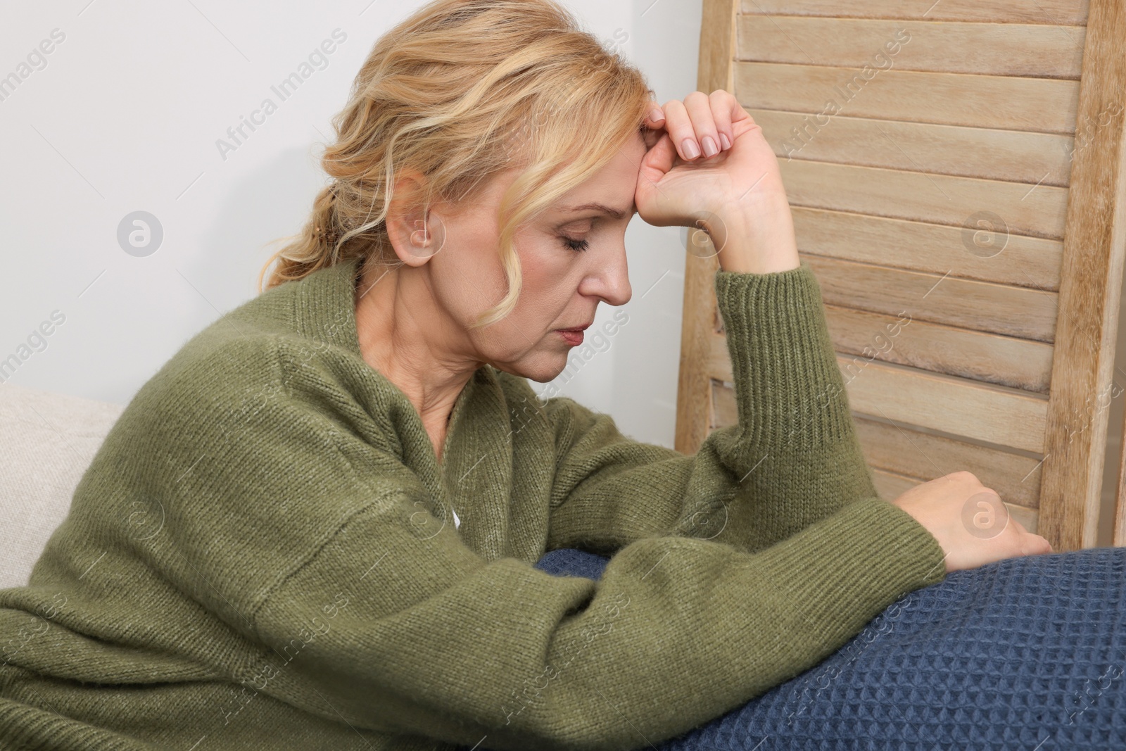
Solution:
<svg viewBox="0 0 1126 751">
<path fill-rule="evenodd" d="M 634 200 L 656 226 L 698 226 L 722 268 L 767 272 L 798 265 L 793 217 L 778 159 L 730 92 L 672 99 L 663 119 L 645 118 Z"/>
</svg>

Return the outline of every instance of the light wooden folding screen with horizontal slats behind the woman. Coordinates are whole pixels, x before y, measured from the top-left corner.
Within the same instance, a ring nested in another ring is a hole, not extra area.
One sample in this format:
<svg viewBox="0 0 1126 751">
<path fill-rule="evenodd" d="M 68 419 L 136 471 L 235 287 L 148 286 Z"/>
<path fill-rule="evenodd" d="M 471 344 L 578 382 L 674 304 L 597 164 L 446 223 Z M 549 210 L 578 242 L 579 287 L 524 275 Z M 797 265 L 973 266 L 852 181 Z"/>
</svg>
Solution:
<svg viewBox="0 0 1126 751">
<path fill-rule="evenodd" d="M 1055 549 L 1094 545 L 1126 388 L 1126 3 L 704 0 L 699 60 L 778 155 L 879 493 L 968 470 Z M 691 453 L 736 417 L 717 263 L 687 258 Z"/>
</svg>

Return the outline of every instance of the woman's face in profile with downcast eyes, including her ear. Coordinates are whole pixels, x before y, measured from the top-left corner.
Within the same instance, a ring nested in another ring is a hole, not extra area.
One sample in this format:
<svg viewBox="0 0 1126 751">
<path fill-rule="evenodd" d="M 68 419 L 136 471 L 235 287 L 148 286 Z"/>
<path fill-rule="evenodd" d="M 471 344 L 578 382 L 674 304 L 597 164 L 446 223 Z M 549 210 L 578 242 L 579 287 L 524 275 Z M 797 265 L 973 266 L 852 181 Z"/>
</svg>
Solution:
<svg viewBox="0 0 1126 751">
<path fill-rule="evenodd" d="M 539 383 L 562 373 L 575 343 L 558 330 L 588 325 L 599 302 L 624 305 L 632 295 L 625 232 L 635 213 L 645 150 L 638 134 L 593 177 L 518 230 L 520 295 L 508 316 L 483 329 L 468 327 L 508 288 L 497 209 L 519 171 L 501 173 L 456 213 L 438 212 L 445 240 L 426 266 L 431 267 L 427 276 L 444 318 L 457 324 L 446 337 L 455 349 L 450 355 Z"/>
</svg>

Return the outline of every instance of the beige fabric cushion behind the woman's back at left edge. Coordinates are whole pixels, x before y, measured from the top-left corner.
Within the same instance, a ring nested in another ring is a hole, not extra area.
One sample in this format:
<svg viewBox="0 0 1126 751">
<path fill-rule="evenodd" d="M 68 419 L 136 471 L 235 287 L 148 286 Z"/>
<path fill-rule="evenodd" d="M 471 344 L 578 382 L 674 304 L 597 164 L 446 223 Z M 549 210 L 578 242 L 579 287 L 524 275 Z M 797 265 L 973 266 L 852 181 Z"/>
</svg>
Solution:
<svg viewBox="0 0 1126 751">
<path fill-rule="evenodd" d="M 0 384 L 0 589 L 27 583 L 120 404 Z"/>
</svg>

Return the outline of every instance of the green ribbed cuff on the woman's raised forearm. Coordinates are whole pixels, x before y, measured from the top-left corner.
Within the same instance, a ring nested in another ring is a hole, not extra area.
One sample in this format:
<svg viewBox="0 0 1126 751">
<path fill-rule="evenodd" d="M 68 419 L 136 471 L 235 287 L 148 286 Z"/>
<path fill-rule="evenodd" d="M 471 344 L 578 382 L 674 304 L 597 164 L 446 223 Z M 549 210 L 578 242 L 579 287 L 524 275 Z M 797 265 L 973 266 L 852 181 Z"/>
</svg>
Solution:
<svg viewBox="0 0 1126 751">
<path fill-rule="evenodd" d="M 801 450 L 848 437 L 852 418 L 810 266 L 720 269 L 715 294 L 744 439 Z"/>
</svg>

